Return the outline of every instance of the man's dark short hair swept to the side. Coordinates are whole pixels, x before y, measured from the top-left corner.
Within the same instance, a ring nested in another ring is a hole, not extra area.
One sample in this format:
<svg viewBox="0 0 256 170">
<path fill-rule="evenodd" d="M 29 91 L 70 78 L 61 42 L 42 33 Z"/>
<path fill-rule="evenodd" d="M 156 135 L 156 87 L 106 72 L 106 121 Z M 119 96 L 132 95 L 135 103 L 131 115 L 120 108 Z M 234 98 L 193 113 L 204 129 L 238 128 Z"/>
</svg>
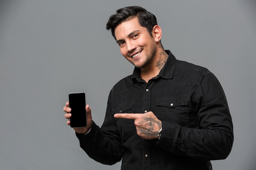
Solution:
<svg viewBox="0 0 256 170">
<path fill-rule="evenodd" d="M 146 9 L 138 6 L 129 6 L 120 8 L 115 14 L 111 15 L 106 29 L 111 30 L 112 36 L 115 38 L 115 28 L 124 21 L 130 20 L 137 17 L 139 19 L 139 24 L 145 27 L 148 33 L 152 35 L 151 31 L 155 25 L 157 25 L 157 18 L 152 13 L 148 12 Z"/>
</svg>

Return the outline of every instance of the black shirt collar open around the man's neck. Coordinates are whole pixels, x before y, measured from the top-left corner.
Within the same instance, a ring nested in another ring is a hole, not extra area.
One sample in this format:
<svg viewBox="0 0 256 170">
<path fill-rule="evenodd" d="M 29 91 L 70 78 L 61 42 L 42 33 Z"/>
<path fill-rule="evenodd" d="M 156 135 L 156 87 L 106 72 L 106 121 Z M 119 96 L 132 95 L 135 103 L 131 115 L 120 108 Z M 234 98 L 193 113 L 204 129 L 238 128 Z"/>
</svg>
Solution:
<svg viewBox="0 0 256 170">
<path fill-rule="evenodd" d="M 165 52 L 168 54 L 168 58 L 166 60 L 166 63 L 164 64 L 164 67 L 161 69 L 159 75 L 157 77 L 161 76 L 166 79 L 171 79 L 173 78 L 173 73 L 175 71 L 175 67 L 177 64 L 177 60 L 174 57 L 174 55 L 171 53 L 170 50 L 165 50 Z M 137 80 L 139 82 L 142 81 L 141 76 L 140 76 L 140 69 L 139 68 L 134 68 L 134 71 L 132 73 L 132 82 Z"/>
</svg>

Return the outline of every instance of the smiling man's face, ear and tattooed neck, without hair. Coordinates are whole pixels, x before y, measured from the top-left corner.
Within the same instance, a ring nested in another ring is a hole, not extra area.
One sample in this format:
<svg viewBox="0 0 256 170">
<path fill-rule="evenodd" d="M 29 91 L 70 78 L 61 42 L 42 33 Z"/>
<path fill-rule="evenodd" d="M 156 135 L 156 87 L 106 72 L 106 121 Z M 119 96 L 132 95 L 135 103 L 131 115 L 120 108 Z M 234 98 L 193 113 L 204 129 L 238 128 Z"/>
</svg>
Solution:
<svg viewBox="0 0 256 170">
<path fill-rule="evenodd" d="M 135 67 L 140 68 L 141 78 L 146 82 L 158 75 L 162 68 L 156 65 L 159 54 L 164 55 L 166 59 L 168 57 L 160 43 L 161 36 L 162 31 L 158 25 L 153 26 L 149 33 L 135 16 L 115 28 L 115 38 L 121 54 Z M 162 60 L 162 65 L 164 62 L 165 60 Z"/>
</svg>

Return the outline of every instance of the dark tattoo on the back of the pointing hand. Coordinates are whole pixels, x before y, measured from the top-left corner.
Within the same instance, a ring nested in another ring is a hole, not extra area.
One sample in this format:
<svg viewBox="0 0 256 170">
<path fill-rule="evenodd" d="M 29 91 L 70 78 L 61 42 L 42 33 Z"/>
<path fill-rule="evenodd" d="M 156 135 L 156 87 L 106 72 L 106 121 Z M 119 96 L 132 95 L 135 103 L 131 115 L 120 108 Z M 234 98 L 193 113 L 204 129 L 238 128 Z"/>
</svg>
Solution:
<svg viewBox="0 0 256 170">
<path fill-rule="evenodd" d="M 145 117 L 144 124 L 145 124 L 145 127 L 144 127 L 144 129 L 140 130 L 141 133 L 144 133 L 144 134 L 150 135 L 150 136 L 157 136 L 158 132 L 157 131 L 154 132 L 154 127 L 158 126 L 158 128 L 160 129 L 161 128 L 160 122 L 156 121 L 153 118 Z"/>
</svg>

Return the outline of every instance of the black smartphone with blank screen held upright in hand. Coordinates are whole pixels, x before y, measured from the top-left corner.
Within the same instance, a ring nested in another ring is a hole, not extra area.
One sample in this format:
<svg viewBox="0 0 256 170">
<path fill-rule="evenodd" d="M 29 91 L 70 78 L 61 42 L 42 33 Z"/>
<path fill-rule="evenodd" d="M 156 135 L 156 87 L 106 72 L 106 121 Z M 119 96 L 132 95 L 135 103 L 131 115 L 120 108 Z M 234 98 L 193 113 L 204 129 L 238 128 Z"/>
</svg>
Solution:
<svg viewBox="0 0 256 170">
<path fill-rule="evenodd" d="M 85 93 L 70 93 L 68 95 L 70 102 L 71 114 L 70 127 L 78 128 L 85 127 L 86 122 L 86 110 L 85 110 Z"/>
</svg>

